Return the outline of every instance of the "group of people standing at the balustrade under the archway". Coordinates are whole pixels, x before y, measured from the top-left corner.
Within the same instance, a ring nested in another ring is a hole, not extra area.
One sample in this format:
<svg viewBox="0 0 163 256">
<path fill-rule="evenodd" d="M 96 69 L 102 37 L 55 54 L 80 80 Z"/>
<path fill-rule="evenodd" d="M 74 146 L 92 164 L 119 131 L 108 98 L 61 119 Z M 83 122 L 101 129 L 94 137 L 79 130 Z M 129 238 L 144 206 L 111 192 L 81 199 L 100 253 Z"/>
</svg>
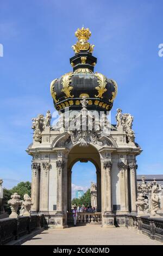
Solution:
<svg viewBox="0 0 163 256">
<path fill-rule="evenodd" d="M 95 207 L 92 207 L 91 205 L 79 205 L 78 207 L 74 206 L 74 209 L 72 210 L 74 226 L 77 224 L 78 212 L 97 212 L 97 205 Z"/>
</svg>

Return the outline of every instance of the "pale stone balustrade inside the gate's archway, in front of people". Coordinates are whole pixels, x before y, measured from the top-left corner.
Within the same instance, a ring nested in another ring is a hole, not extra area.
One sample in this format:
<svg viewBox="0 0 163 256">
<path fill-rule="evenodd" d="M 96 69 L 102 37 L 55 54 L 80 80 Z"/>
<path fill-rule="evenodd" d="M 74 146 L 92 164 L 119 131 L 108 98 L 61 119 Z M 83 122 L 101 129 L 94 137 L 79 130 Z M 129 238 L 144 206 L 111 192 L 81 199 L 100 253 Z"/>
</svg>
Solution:
<svg viewBox="0 0 163 256">
<path fill-rule="evenodd" d="M 68 216 L 68 223 L 73 223 L 72 212 L 68 212 L 67 216 Z M 101 224 L 101 218 L 102 218 L 101 212 L 78 212 L 77 223 Z"/>
</svg>

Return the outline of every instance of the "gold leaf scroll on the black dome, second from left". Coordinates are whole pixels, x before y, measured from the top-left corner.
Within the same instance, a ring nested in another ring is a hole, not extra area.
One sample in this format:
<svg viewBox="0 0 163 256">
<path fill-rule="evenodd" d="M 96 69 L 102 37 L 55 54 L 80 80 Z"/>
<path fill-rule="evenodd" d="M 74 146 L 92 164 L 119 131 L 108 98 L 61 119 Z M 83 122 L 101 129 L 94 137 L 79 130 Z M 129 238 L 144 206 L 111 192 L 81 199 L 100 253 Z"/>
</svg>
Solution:
<svg viewBox="0 0 163 256">
<path fill-rule="evenodd" d="M 70 83 L 71 83 L 71 77 L 73 76 L 73 73 L 70 72 L 70 73 L 67 73 L 65 74 L 64 76 L 62 76 L 62 89 L 61 89 L 61 92 L 65 93 L 65 99 L 67 99 L 68 97 L 73 97 L 73 95 L 71 95 L 71 90 L 73 89 L 72 86 L 70 86 Z"/>
</svg>

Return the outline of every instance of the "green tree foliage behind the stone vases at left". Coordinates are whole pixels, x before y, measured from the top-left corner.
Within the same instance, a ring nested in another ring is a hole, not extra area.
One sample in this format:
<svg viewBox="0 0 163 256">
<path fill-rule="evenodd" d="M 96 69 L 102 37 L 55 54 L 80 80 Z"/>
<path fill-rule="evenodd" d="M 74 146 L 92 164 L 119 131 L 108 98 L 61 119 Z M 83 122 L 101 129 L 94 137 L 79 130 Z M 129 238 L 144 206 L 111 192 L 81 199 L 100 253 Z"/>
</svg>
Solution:
<svg viewBox="0 0 163 256">
<path fill-rule="evenodd" d="M 21 200 L 23 200 L 24 194 L 28 194 L 31 196 L 31 182 L 20 182 L 17 184 L 17 186 L 12 187 L 10 190 L 7 188 L 4 188 L 3 190 L 3 205 L 5 212 L 8 212 L 8 214 L 11 214 L 10 205 L 8 204 L 8 200 L 11 199 L 11 194 L 18 193 L 21 196 Z"/>
</svg>

